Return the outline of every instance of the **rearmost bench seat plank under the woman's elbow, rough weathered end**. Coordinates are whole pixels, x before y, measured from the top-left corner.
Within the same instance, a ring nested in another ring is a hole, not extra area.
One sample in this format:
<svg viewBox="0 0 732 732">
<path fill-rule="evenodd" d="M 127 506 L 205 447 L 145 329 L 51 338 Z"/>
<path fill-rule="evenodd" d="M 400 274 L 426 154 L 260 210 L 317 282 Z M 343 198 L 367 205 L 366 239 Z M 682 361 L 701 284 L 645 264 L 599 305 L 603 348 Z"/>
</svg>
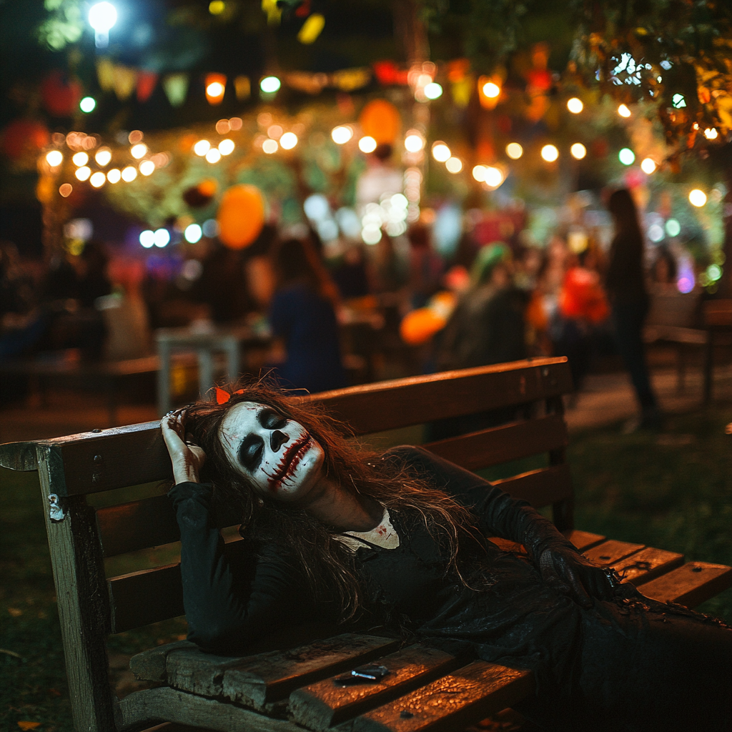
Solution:
<svg viewBox="0 0 732 732">
<path fill-rule="evenodd" d="M 342 633 L 287 651 L 223 657 L 198 648 L 168 652 L 165 671 L 171 687 L 192 694 L 225 697 L 259 711 L 318 679 L 346 671 L 395 649 L 398 641 Z"/>
</svg>

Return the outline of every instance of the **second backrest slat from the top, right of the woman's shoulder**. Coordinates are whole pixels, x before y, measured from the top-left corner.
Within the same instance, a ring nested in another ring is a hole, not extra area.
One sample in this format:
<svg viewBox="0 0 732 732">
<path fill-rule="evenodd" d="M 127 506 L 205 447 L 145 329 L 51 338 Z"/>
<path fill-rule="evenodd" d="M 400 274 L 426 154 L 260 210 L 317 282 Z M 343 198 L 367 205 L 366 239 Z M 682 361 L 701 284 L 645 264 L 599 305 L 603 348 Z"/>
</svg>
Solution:
<svg viewBox="0 0 732 732">
<path fill-rule="evenodd" d="M 430 442 L 424 447 L 467 470 L 479 470 L 567 447 L 567 425 L 560 414 L 550 414 Z"/>
</svg>

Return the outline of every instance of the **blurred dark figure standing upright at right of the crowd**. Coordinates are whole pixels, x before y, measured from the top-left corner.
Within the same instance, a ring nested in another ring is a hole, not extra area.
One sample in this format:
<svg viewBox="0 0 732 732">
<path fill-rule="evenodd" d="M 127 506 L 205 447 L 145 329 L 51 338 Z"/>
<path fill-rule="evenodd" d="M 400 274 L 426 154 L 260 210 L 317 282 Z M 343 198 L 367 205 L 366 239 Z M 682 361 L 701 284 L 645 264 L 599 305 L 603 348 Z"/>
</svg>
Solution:
<svg viewBox="0 0 732 732">
<path fill-rule="evenodd" d="M 643 324 L 649 309 L 643 271 L 643 233 L 630 191 L 624 188 L 614 191 L 608 201 L 608 211 L 613 217 L 615 236 L 610 244 L 605 290 L 610 300 L 618 350 L 630 372 L 641 407 L 639 419 L 627 425 L 627 429 L 657 430 L 661 426 L 661 414 L 651 387 L 643 346 Z"/>
</svg>

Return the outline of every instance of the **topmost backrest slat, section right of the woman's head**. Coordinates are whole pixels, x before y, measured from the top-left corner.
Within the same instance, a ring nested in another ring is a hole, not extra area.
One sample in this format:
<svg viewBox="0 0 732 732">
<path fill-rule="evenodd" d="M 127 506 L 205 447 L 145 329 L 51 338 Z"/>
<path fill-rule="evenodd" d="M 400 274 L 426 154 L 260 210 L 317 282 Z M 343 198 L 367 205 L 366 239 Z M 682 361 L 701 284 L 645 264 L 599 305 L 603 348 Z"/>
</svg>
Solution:
<svg viewBox="0 0 732 732">
<path fill-rule="evenodd" d="M 445 371 L 303 399 L 324 404 L 335 417 L 348 422 L 356 435 L 366 435 L 567 394 L 572 391 L 572 377 L 565 360 L 527 359 Z M 490 381 L 490 389 L 485 381 Z"/>
</svg>

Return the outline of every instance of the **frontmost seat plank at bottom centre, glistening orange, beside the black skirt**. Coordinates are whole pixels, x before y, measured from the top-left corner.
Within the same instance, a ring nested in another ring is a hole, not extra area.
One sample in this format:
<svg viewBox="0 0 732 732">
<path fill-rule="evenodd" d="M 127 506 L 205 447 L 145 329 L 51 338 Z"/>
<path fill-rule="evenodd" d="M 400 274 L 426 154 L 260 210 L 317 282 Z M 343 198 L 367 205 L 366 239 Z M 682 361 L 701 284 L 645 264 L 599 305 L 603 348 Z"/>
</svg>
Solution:
<svg viewBox="0 0 732 732">
<path fill-rule="evenodd" d="M 353 732 L 459 730 L 526 698 L 533 689 L 531 671 L 474 661 L 356 717 Z"/>
</svg>

